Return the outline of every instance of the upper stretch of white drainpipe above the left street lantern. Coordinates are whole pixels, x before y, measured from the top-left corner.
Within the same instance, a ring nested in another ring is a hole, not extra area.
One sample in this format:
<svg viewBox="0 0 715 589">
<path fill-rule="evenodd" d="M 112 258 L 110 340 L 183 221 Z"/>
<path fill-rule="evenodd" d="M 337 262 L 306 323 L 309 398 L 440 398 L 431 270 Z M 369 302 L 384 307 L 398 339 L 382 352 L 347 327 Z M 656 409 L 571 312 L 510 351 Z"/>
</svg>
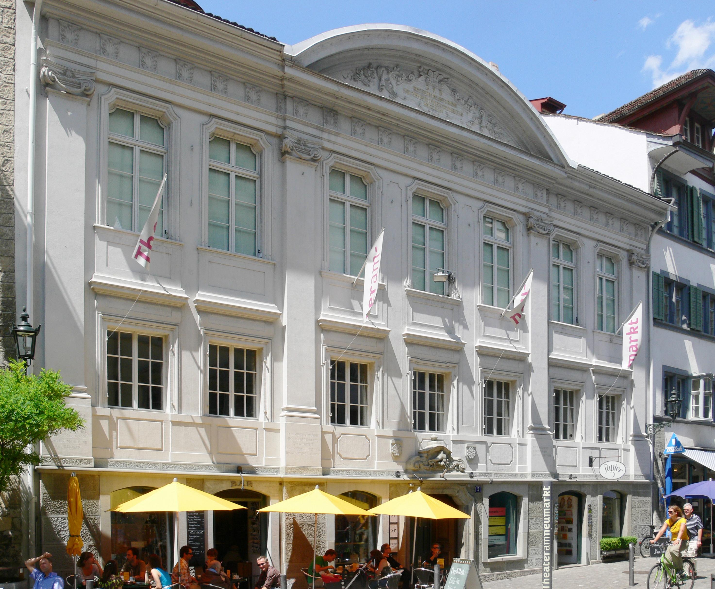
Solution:
<svg viewBox="0 0 715 589">
<path fill-rule="evenodd" d="M 34 247 L 35 247 L 35 127 L 37 120 L 37 33 L 39 30 L 42 0 L 35 0 L 32 11 L 32 34 L 30 38 L 30 99 L 27 125 L 27 258 L 25 305 L 33 316 L 34 299 Z"/>
</svg>

